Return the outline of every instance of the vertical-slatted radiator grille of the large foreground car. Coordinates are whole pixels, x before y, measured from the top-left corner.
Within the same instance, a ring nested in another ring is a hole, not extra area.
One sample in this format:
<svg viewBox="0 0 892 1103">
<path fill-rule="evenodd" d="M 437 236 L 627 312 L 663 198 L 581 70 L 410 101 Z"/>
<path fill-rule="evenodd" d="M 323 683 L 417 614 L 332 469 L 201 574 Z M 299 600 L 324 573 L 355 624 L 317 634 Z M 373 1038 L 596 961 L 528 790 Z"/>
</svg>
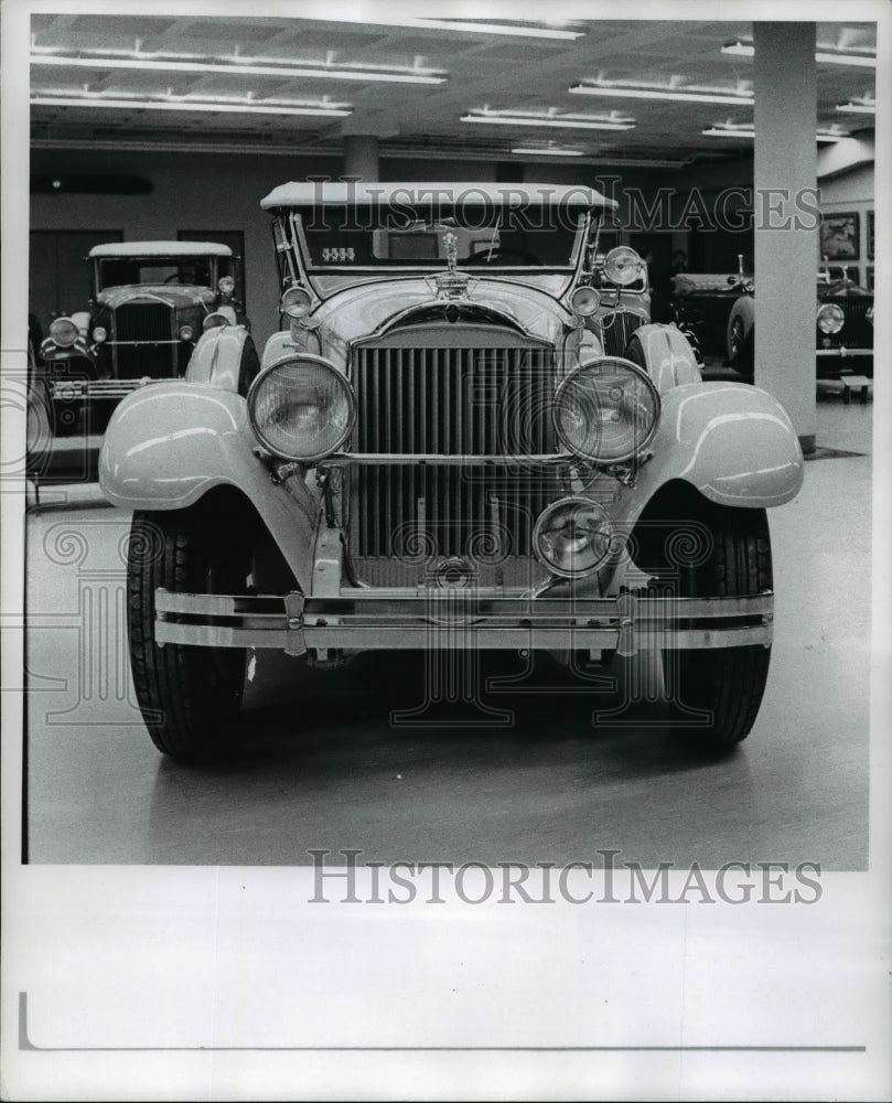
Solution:
<svg viewBox="0 0 892 1103">
<path fill-rule="evenodd" d="M 559 496 L 554 472 L 523 457 L 556 451 L 554 360 L 538 349 L 361 349 L 353 368 L 355 452 L 463 456 L 461 465 L 380 463 L 352 470 L 350 550 L 373 586 L 423 582 L 463 557 L 477 581 L 528 586 L 533 526 Z M 507 467 L 477 456 L 515 456 Z"/>
</svg>

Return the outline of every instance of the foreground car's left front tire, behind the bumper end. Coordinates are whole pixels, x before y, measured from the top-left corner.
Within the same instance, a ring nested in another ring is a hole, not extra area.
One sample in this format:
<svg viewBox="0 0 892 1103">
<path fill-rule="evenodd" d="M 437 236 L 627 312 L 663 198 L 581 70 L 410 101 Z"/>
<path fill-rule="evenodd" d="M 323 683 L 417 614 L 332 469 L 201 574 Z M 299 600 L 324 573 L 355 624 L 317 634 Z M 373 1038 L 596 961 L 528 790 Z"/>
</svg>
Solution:
<svg viewBox="0 0 892 1103">
<path fill-rule="evenodd" d="M 133 685 L 152 742 L 171 758 L 214 760 L 237 747 L 246 651 L 159 646 L 155 589 L 244 593 L 249 569 L 249 539 L 232 516 L 224 525 L 219 511 L 203 503 L 133 514 L 127 563 Z"/>
</svg>

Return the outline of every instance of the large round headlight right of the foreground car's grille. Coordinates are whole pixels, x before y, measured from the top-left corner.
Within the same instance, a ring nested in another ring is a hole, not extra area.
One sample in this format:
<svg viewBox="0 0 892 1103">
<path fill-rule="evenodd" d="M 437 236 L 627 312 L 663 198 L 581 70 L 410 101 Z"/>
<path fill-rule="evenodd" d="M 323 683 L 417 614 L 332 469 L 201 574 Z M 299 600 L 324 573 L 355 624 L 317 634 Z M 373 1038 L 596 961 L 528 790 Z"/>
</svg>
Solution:
<svg viewBox="0 0 892 1103">
<path fill-rule="evenodd" d="M 641 452 L 659 421 L 659 392 L 631 360 L 599 356 L 571 372 L 555 394 L 555 430 L 571 452 L 621 463 Z"/>
</svg>

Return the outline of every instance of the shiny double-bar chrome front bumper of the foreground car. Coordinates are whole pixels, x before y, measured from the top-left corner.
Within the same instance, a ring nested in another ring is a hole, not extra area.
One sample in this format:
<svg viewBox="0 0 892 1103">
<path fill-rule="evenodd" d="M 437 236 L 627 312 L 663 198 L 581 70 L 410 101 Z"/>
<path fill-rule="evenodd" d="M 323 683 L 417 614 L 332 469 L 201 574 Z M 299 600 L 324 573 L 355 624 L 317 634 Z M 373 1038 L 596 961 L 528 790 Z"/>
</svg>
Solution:
<svg viewBox="0 0 892 1103">
<path fill-rule="evenodd" d="M 155 641 L 308 650 L 615 650 L 769 646 L 772 591 L 733 598 L 506 596 L 492 590 L 342 590 L 337 598 L 155 591 Z"/>
</svg>

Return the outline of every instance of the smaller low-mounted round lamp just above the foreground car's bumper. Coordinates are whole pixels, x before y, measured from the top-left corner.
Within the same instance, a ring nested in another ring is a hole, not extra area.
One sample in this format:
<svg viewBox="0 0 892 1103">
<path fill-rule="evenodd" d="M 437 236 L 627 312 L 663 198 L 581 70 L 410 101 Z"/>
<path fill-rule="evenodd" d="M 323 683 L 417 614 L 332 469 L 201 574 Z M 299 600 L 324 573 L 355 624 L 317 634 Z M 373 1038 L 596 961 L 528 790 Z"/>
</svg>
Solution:
<svg viewBox="0 0 892 1103">
<path fill-rule="evenodd" d="M 560 578 L 591 575 L 614 552 L 608 511 L 588 497 L 563 497 L 539 514 L 533 529 L 536 558 Z"/>
</svg>

